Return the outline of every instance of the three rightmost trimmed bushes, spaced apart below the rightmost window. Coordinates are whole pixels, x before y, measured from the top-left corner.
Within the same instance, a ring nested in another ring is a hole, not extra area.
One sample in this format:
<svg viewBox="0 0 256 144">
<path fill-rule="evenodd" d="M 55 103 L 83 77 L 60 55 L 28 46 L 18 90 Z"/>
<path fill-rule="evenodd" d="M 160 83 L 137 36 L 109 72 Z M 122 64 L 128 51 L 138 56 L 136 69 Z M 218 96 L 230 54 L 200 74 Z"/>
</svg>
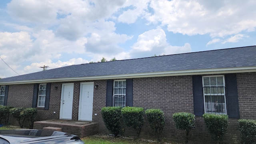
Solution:
<svg viewBox="0 0 256 144">
<path fill-rule="evenodd" d="M 179 112 L 172 115 L 176 128 L 185 131 L 185 140 L 188 143 L 188 132 L 195 127 L 195 115 L 188 112 Z M 228 115 L 204 114 L 207 130 L 214 135 L 217 144 L 222 143 L 222 138 L 228 129 Z M 256 143 L 256 120 L 238 120 L 239 130 L 242 134 L 242 144 Z"/>
</svg>

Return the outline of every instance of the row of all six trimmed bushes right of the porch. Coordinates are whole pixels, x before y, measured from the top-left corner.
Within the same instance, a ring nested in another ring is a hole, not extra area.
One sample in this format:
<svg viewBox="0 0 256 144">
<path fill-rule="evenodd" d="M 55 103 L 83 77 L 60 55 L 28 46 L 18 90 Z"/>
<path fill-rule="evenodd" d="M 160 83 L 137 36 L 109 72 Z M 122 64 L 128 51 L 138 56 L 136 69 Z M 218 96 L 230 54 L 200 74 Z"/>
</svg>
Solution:
<svg viewBox="0 0 256 144">
<path fill-rule="evenodd" d="M 104 107 L 101 110 L 106 128 L 117 136 L 120 132 L 121 118 L 127 127 L 132 127 L 140 135 L 144 123 L 144 109 L 140 107 Z M 162 140 L 162 132 L 165 124 L 164 112 L 160 109 L 148 109 L 146 117 L 159 141 Z M 188 143 L 188 134 L 195 128 L 195 115 L 189 112 L 178 112 L 172 115 L 176 128 L 185 132 L 185 140 Z M 204 122 L 207 130 L 214 136 L 217 144 L 222 143 L 222 138 L 228 129 L 228 115 L 204 114 Z M 242 134 L 242 144 L 256 143 L 256 120 L 238 120 Z"/>
</svg>

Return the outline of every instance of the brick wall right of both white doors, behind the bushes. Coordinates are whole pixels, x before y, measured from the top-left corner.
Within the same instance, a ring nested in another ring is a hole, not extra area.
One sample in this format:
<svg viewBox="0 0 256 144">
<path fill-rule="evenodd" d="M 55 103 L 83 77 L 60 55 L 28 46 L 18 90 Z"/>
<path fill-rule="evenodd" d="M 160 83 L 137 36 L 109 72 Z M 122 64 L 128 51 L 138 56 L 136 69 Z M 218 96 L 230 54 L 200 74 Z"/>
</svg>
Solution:
<svg viewBox="0 0 256 144">
<path fill-rule="evenodd" d="M 256 111 L 256 73 L 237 74 L 238 98 L 240 103 L 240 118 L 255 119 Z M 104 87 L 99 93 L 94 93 L 94 103 L 99 102 L 98 108 L 94 107 L 94 113 L 100 113 L 100 109 L 105 105 Z M 98 94 L 102 94 L 101 96 Z M 97 100 L 96 100 L 97 98 Z M 103 103 L 102 103 L 103 102 Z M 249 103 L 248 103 L 249 102 Z M 244 104 L 243 104 L 244 103 Z M 249 107 L 246 106 L 249 104 Z M 94 105 L 95 106 L 95 105 Z M 133 106 L 148 108 L 160 108 L 164 111 L 166 124 L 164 128 L 164 137 L 175 142 L 183 142 L 184 132 L 175 128 L 172 120 L 174 112 L 194 112 L 193 92 L 192 92 L 192 76 L 171 76 L 158 78 L 134 78 L 133 79 Z M 146 118 L 145 118 L 146 120 Z M 240 143 L 240 132 L 238 130 L 238 119 L 230 118 L 227 134 L 224 136 L 224 142 L 229 144 Z M 93 117 L 94 122 L 99 122 L 99 132 L 109 134 L 106 130 L 101 116 Z M 135 136 L 136 132 L 132 129 L 125 128 L 124 135 Z M 154 138 L 154 134 L 147 123 L 144 123 L 141 136 L 144 138 Z M 193 141 L 192 141 L 193 140 Z M 196 128 L 189 134 L 189 142 L 191 143 L 214 143 L 211 134 L 205 128 L 202 116 L 196 116 Z"/>
</svg>

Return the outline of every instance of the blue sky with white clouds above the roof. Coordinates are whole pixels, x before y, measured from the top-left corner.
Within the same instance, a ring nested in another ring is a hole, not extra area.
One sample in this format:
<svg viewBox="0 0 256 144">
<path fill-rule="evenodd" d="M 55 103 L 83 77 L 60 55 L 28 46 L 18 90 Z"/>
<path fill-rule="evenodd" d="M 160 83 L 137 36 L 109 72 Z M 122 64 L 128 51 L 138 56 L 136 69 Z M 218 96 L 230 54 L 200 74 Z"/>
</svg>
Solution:
<svg viewBox="0 0 256 144">
<path fill-rule="evenodd" d="M 255 0 L 0 0 L 0 78 L 256 44 Z"/>
</svg>

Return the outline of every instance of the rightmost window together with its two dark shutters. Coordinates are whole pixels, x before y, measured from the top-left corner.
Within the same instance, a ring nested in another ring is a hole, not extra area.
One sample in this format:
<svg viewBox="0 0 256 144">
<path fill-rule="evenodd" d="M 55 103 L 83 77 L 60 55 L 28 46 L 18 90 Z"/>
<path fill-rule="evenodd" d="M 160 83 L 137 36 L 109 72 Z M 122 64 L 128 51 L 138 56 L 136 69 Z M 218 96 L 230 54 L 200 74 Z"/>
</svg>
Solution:
<svg viewBox="0 0 256 144">
<path fill-rule="evenodd" d="M 223 76 L 222 78 L 203 76 L 203 78 L 192 76 L 194 114 L 202 116 L 204 113 L 217 113 L 228 114 L 229 118 L 239 118 L 236 74 L 225 74 L 224 79 Z M 225 99 L 226 104 L 224 104 Z M 209 100 L 210 106 L 208 106 Z M 211 104 L 212 102 L 214 103 Z"/>
</svg>

